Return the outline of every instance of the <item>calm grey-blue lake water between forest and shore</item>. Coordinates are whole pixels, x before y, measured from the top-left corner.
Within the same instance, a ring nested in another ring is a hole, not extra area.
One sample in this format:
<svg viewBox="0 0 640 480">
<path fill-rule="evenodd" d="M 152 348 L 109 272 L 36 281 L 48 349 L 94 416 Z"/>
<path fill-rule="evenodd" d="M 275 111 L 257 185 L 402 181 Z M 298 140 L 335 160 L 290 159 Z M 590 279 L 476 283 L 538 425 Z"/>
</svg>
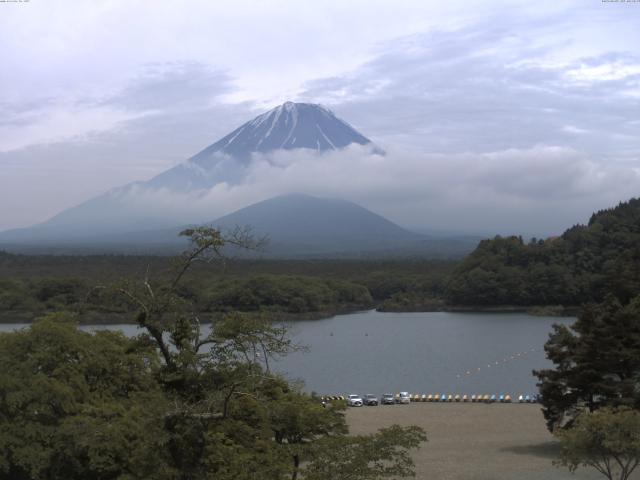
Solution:
<svg viewBox="0 0 640 480">
<path fill-rule="evenodd" d="M 309 351 L 273 368 L 321 394 L 532 394 L 531 371 L 550 365 L 542 347 L 551 325 L 573 321 L 519 313 L 368 311 L 291 322 L 294 340 Z M 0 331 L 24 326 L 3 324 Z M 82 328 L 139 332 L 133 325 Z"/>
</svg>

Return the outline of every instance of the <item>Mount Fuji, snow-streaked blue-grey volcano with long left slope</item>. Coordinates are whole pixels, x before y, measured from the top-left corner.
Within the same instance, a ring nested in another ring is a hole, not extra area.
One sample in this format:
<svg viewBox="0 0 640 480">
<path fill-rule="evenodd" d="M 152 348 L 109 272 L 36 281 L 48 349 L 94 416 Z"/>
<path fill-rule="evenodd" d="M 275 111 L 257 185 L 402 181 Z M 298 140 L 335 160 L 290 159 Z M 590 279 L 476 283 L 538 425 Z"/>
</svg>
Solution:
<svg viewBox="0 0 640 480">
<path fill-rule="evenodd" d="M 151 208 L 148 203 L 135 200 L 154 192 L 198 194 L 221 183 L 241 184 L 256 155 L 279 150 L 322 153 L 354 144 L 369 148 L 372 154 L 384 154 L 327 108 L 286 102 L 148 181 L 114 188 L 41 224 L 0 232 L 0 244 L 69 244 L 101 235 L 209 221 L 210 217 L 170 215 L 162 208 Z M 268 157 L 265 158 L 268 161 Z"/>
</svg>

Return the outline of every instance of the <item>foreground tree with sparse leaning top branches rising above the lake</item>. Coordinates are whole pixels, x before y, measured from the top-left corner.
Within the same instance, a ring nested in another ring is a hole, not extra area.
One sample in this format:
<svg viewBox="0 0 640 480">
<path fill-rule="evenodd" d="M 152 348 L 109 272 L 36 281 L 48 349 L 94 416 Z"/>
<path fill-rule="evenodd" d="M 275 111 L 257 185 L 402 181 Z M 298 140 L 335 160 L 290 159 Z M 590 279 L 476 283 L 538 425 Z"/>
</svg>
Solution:
<svg viewBox="0 0 640 480">
<path fill-rule="evenodd" d="M 269 319 L 230 313 L 212 325 L 209 335 L 201 334 L 197 311 L 181 295 L 183 278 L 197 262 L 223 259 L 223 248 L 254 248 L 255 242 L 246 231 L 224 236 L 201 227 L 182 234 L 192 247 L 167 275 L 152 279 L 147 273 L 141 281 L 109 289 L 137 307 L 145 339 L 159 352 L 156 377 L 171 406 L 164 415 L 167 462 L 184 480 L 289 474 L 295 479 L 306 471 L 303 465 L 317 442 L 347 438 L 344 417 L 339 408 L 323 407 L 271 373 L 269 360 L 296 346 Z M 366 447 L 374 437 L 349 444 L 369 462 L 396 466 L 398 474 L 412 471 L 406 445 L 417 446 L 419 438 L 414 443 L 402 435 L 384 438 L 387 443 L 378 443 L 388 444 L 386 449 Z"/>
</svg>

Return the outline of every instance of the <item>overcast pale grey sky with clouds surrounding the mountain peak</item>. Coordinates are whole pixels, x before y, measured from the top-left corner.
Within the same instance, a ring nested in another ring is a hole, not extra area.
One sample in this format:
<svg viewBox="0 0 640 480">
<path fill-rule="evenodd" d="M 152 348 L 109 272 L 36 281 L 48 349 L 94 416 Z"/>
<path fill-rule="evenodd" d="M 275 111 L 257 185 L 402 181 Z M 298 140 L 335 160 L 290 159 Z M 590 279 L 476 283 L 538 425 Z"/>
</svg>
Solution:
<svg viewBox="0 0 640 480">
<path fill-rule="evenodd" d="M 407 226 L 559 233 L 640 195 L 639 25 L 640 2 L 606 0 L 0 2 L 0 230 L 293 100 L 389 154 L 256 162 L 212 192 L 222 210 L 298 190 Z"/>
</svg>

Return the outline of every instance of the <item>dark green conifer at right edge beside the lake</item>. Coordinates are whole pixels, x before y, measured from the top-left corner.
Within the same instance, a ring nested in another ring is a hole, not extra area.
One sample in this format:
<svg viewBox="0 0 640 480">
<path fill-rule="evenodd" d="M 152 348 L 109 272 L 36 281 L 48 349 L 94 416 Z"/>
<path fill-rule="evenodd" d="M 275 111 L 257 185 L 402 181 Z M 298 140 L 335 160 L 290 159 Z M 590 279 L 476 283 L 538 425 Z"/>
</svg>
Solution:
<svg viewBox="0 0 640 480">
<path fill-rule="evenodd" d="M 640 408 L 640 296 L 586 307 L 571 328 L 554 326 L 545 351 L 555 368 L 534 373 L 551 430 L 584 409 Z"/>
</svg>

